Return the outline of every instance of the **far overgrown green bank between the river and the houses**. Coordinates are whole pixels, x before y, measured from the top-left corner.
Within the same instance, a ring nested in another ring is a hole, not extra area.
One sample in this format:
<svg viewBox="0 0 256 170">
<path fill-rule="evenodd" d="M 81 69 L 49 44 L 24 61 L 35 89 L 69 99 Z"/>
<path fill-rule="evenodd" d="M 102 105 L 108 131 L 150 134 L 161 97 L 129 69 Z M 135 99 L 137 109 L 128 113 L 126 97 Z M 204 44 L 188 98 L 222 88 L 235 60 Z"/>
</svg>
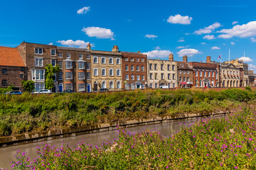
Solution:
<svg viewBox="0 0 256 170">
<path fill-rule="evenodd" d="M 256 91 L 251 89 L 0 95 L 0 137 L 120 120 L 227 111 L 255 98 Z"/>
</svg>

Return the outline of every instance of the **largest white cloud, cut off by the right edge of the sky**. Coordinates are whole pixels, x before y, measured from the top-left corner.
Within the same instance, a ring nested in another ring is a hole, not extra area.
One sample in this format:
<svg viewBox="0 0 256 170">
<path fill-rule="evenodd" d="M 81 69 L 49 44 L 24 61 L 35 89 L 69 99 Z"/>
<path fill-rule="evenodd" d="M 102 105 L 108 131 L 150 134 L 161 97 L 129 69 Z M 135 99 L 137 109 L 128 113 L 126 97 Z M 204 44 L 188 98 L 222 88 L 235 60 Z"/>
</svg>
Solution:
<svg viewBox="0 0 256 170">
<path fill-rule="evenodd" d="M 233 26 L 233 28 L 230 29 L 223 29 L 220 31 L 217 31 L 217 33 L 226 33 L 226 38 L 233 38 L 233 37 L 239 37 L 239 38 L 247 38 L 252 37 L 256 35 L 256 21 L 251 21 L 247 24 L 242 24 Z M 223 37 L 222 37 L 223 38 Z"/>
</svg>

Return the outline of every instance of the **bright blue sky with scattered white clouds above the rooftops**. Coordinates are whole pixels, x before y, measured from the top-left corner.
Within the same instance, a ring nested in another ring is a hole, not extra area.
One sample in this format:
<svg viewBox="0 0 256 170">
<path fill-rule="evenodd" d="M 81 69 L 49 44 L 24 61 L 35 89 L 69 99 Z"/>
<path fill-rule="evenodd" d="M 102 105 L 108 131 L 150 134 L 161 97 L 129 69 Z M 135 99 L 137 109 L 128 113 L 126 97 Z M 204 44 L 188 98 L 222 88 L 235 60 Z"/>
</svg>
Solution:
<svg viewBox="0 0 256 170">
<path fill-rule="evenodd" d="M 256 71 L 256 1 L 1 1 L 0 45 L 23 40 L 205 62 L 244 55 Z"/>
</svg>

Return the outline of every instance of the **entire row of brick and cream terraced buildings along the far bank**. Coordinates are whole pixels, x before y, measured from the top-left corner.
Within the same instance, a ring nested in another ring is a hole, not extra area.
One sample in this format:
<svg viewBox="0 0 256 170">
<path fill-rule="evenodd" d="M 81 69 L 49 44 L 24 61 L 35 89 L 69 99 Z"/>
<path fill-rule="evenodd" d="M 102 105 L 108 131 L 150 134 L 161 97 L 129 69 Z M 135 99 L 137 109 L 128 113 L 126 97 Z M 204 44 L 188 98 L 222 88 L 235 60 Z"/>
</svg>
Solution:
<svg viewBox="0 0 256 170">
<path fill-rule="evenodd" d="M 242 60 L 206 62 L 152 60 L 142 52 L 112 51 L 87 48 L 59 47 L 21 42 L 18 47 L 0 47 L 0 87 L 10 84 L 21 89 L 22 80 L 33 80 L 35 89 L 45 88 L 46 65 L 58 65 L 54 74 L 53 92 L 73 90 L 91 92 L 99 89 L 110 91 L 133 89 L 190 88 L 192 86 L 240 87 L 254 86 L 255 74 Z"/>
</svg>

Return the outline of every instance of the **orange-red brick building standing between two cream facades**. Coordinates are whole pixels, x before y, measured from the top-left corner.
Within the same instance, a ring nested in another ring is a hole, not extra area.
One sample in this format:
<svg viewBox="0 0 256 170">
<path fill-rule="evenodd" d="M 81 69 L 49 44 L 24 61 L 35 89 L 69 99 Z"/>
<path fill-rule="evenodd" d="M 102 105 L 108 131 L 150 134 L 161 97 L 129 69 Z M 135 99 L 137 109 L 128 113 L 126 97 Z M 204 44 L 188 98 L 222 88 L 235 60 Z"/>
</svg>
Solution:
<svg viewBox="0 0 256 170">
<path fill-rule="evenodd" d="M 146 87 L 146 55 L 141 52 L 122 52 L 123 89 L 144 89 Z"/>
</svg>

